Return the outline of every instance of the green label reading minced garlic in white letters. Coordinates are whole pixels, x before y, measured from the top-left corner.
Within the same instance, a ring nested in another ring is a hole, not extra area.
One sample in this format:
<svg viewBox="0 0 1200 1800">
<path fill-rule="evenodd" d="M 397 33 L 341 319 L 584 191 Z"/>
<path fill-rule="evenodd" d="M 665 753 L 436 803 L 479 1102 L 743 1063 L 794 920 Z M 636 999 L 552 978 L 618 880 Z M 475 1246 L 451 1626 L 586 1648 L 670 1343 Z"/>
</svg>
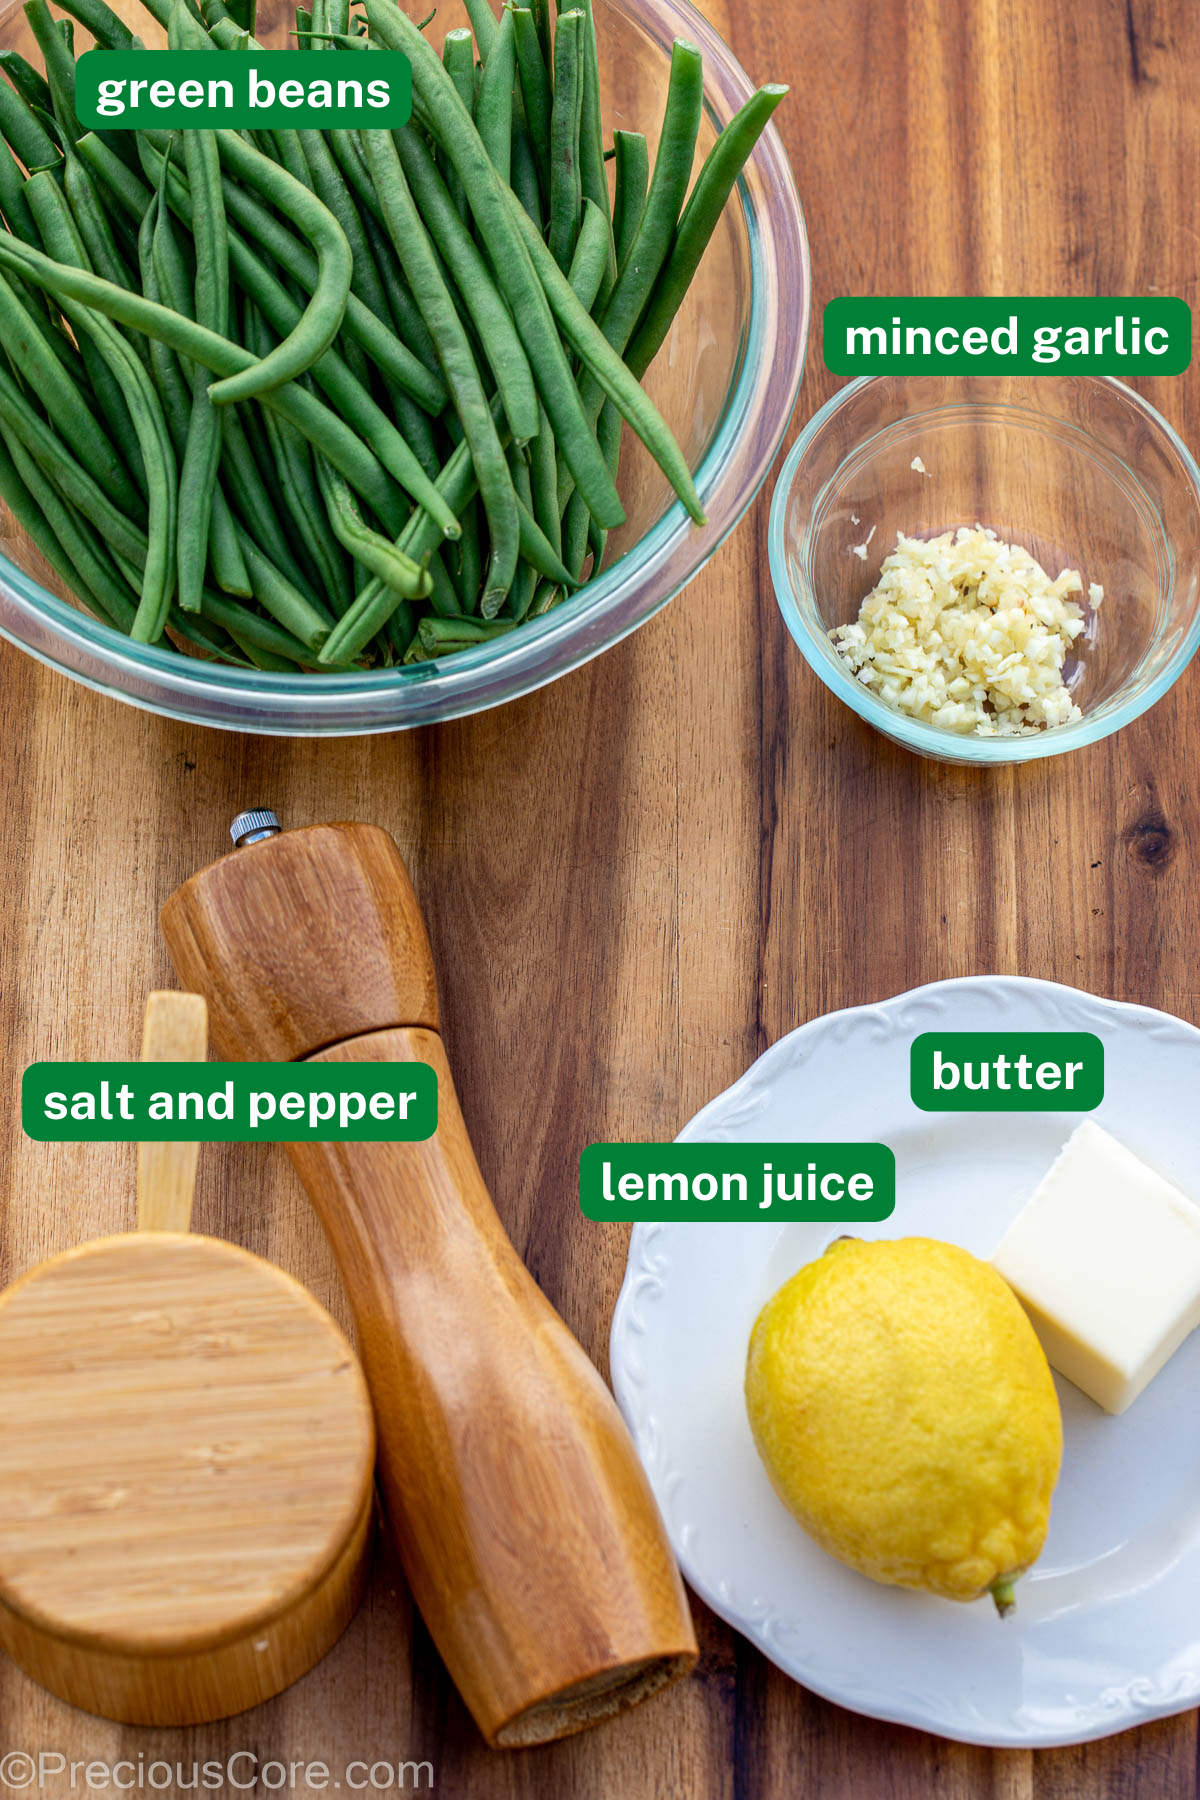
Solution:
<svg viewBox="0 0 1200 1800">
<path fill-rule="evenodd" d="M 835 374 L 1182 374 L 1191 308 L 1133 299 L 840 299 L 824 311 Z"/>
</svg>

